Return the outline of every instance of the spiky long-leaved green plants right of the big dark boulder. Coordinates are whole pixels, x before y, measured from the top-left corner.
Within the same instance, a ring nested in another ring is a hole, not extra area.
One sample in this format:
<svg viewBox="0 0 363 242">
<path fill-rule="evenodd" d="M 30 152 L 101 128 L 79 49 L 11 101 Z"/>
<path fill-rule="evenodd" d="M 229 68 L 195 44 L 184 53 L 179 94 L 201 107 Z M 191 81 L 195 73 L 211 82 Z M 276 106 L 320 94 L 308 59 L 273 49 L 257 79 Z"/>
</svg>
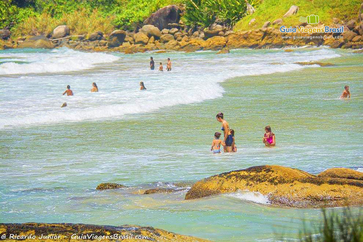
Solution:
<svg viewBox="0 0 363 242">
<path fill-rule="evenodd" d="M 208 27 L 213 23 L 233 26 L 246 16 L 247 4 L 256 7 L 260 0 L 188 0 L 184 20 L 188 25 Z"/>
</svg>

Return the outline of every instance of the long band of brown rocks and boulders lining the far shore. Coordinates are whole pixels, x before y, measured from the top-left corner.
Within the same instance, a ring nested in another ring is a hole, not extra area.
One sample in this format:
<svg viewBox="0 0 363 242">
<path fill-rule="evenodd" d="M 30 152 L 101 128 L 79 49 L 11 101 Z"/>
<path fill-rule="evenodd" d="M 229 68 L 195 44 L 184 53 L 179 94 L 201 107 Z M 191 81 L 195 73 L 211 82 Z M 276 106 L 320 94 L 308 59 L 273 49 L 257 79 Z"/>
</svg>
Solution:
<svg viewBox="0 0 363 242">
<path fill-rule="evenodd" d="M 296 12 L 297 10 L 294 13 Z M 174 16 L 172 19 L 170 13 L 175 14 L 172 15 Z M 273 23 L 265 22 L 261 28 L 246 31 L 233 32 L 221 25 L 193 31 L 195 29 L 180 24 L 179 19 L 178 7 L 171 5 L 159 9 L 144 21 L 145 25 L 142 28 L 134 32 L 117 29 L 110 34 L 97 31 L 84 36 L 72 36 L 69 27 L 61 25 L 53 30 L 52 36 L 24 36 L 11 40 L 11 33 L 8 30 L 0 30 L 0 49 L 53 49 L 65 46 L 89 52 L 116 51 L 131 54 L 154 50 L 182 52 L 222 50 L 220 53 L 228 53 L 229 49 L 237 48 L 269 49 L 306 45 L 325 45 L 343 49 L 363 48 L 363 4 L 357 19 L 347 22 L 334 19 L 333 25 L 329 25 L 331 28 L 344 26 L 343 33 L 281 33 L 280 26 L 284 23 L 282 19 L 277 19 Z M 325 25 L 319 22 L 317 26 L 306 23 L 298 26 L 319 29 Z"/>
</svg>

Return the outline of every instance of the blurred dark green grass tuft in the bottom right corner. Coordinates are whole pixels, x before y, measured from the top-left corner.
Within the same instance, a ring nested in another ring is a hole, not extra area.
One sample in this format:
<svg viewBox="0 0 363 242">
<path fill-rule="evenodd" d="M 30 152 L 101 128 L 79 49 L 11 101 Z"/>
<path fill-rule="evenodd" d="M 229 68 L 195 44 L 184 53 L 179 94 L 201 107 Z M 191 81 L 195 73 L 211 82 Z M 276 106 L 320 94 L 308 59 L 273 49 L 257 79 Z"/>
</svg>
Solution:
<svg viewBox="0 0 363 242">
<path fill-rule="evenodd" d="M 300 234 L 301 242 L 362 242 L 363 215 L 353 214 L 346 208 L 342 214 L 323 210 L 322 225 L 313 233 L 306 230 Z"/>
</svg>

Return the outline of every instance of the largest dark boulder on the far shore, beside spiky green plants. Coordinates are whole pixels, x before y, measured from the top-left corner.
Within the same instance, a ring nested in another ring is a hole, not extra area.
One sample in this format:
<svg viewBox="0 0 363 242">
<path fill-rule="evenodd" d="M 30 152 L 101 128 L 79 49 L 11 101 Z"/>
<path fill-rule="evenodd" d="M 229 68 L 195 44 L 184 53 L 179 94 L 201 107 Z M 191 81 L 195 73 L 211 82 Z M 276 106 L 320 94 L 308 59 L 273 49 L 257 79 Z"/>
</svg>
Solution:
<svg viewBox="0 0 363 242">
<path fill-rule="evenodd" d="M 144 24 L 151 24 L 158 27 L 159 30 L 170 29 L 168 24 L 179 23 L 180 9 L 176 5 L 170 5 L 160 8 L 158 11 L 148 17 Z"/>
</svg>

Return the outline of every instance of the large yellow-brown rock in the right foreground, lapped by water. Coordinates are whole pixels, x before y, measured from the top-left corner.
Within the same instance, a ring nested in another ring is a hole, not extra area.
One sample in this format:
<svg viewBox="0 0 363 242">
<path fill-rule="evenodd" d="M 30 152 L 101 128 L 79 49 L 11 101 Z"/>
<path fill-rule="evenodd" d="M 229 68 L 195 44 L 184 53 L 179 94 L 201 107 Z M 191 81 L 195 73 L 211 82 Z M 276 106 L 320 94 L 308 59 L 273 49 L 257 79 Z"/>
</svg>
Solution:
<svg viewBox="0 0 363 242">
<path fill-rule="evenodd" d="M 349 169 L 348 169 L 349 170 Z M 260 165 L 221 173 L 196 182 L 185 199 L 248 190 L 258 192 L 273 205 L 295 208 L 321 208 L 363 205 L 363 180 L 360 176 L 325 172 L 314 176 L 279 165 Z"/>
</svg>

